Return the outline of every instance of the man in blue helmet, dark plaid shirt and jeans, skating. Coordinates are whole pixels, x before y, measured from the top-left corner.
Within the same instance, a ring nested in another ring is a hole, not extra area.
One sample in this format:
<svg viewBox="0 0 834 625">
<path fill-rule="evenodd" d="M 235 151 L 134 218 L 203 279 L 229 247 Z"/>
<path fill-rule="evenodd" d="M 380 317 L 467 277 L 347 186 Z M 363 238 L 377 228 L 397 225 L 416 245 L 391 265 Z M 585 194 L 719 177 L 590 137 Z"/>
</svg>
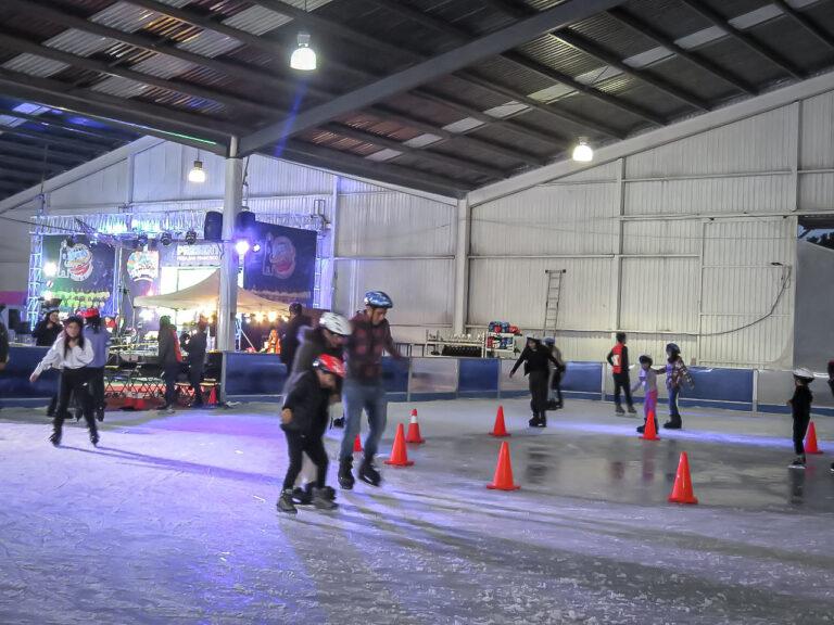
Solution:
<svg viewBox="0 0 834 625">
<path fill-rule="evenodd" d="M 401 359 L 394 346 L 391 327 L 386 316 L 393 308 L 391 297 L 382 291 L 365 294 L 365 310 L 351 319 L 352 332 L 345 345 L 346 377 L 342 387 L 344 403 L 344 437 L 339 455 L 339 485 L 351 489 L 353 477 L 353 442 L 362 424 L 363 409 L 368 413 L 370 431 L 365 439 L 365 457 L 359 467 L 359 480 L 379 486 L 381 476 L 374 465 L 379 439 L 386 431 L 387 401 L 382 386 L 382 353 Z"/>
</svg>

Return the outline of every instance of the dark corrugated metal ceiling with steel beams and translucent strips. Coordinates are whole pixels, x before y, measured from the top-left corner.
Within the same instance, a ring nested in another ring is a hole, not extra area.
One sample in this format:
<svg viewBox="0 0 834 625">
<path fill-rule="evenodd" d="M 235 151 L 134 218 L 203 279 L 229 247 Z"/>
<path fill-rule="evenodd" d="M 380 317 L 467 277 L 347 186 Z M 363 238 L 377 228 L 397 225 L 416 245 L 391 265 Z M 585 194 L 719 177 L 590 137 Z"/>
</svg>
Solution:
<svg viewBox="0 0 834 625">
<path fill-rule="evenodd" d="M 141 135 L 459 196 L 834 65 L 829 0 L 1 4 L 0 197 Z"/>
</svg>

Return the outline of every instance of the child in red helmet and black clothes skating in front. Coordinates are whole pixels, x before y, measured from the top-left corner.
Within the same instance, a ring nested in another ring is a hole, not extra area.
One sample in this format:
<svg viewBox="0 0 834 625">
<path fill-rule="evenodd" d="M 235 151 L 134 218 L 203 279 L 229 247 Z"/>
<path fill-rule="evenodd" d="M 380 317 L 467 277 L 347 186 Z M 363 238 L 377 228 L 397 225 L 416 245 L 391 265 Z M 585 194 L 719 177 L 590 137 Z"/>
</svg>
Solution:
<svg viewBox="0 0 834 625">
<path fill-rule="evenodd" d="M 321 510 L 337 507 L 333 501 L 334 490 L 325 485 L 328 461 L 323 437 L 329 421 L 330 396 L 338 378 L 344 378 L 344 363 L 334 356 L 321 354 L 313 361 L 312 369 L 298 371 L 287 382 L 281 429 L 287 435 L 290 465 L 277 503 L 281 512 L 298 513 L 292 501 L 292 487 L 301 472 L 303 454 L 307 455 L 317 470 L 313 505 Z"/>
</svg>

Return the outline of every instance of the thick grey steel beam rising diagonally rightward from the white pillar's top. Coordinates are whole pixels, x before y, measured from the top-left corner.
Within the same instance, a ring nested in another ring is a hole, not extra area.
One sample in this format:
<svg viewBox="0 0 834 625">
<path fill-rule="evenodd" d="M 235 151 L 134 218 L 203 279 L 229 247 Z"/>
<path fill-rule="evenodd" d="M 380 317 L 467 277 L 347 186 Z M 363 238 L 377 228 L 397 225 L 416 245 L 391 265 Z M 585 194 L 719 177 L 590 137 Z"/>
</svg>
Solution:
<svg viewBox="0 0 834 625">
<path fill-rule="evenodd" d="M 530 39 L 534 39 L 542 33 L 567 26 L 599 11 L 607 11 L 622 1 L 582 0 L 578 2 L 573 0 L 557 4 L 552 9 L 516 22 L 506 28 L 485 35 L 470 43 L 428 59 L 402 72 L 377 80 L 371 85 L 361 87 L 321 105 L 302 111 L 293 117 L 288 117 L 277 124 L 262 128 L 241 140 L 242 152 L 253 152 L 263 145 L 275 143 L 282 138 L 289 137 L 293 132 L 313 128 L 345 113 L 363 109 L 396 93 L 408 91 L 419 85 L 452 74 L 482 59 L 493 56 Z"/>
</svg>

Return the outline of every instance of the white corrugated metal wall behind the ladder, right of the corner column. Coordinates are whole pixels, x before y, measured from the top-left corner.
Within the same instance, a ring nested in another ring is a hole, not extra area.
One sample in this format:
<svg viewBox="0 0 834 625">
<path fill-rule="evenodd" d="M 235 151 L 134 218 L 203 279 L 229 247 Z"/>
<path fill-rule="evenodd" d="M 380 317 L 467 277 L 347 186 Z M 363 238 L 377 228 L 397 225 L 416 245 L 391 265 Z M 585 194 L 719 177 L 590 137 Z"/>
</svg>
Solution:
<svg viewBox="0 0 834 625">
<path fill-rule="evenodd" d="M 789 367 L 796 215 L 834 213 L 832 136 L 825 93 L 475 205 L 469 326 L 541 329 L 564 268 L 569 358 L 622 329 L 656 358 Z"/>
</svg>

